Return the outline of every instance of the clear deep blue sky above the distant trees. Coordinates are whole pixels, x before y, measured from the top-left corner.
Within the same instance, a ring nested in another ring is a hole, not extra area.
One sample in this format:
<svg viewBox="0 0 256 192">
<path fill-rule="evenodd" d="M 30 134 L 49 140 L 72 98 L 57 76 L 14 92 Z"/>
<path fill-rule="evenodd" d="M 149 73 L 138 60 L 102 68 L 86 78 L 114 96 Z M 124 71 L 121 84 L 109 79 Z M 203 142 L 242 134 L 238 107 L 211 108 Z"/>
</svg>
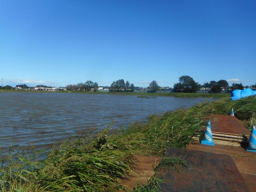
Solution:
<svg viewBox="0 0 256 192">
<path fill-rule="evenodd" d="M 3 84 L 256 83 L 256 1 L 0 0 Z"/>
</svg>

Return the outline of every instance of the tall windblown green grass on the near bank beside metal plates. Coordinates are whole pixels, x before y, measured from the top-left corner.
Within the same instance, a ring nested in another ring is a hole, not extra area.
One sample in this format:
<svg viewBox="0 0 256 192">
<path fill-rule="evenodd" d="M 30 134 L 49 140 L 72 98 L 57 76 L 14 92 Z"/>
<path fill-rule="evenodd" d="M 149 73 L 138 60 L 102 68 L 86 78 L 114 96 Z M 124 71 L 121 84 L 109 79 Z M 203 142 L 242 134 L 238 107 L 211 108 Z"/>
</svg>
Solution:
<svg viewBox="0 0 256 192">
<path fill-rule="evenodd" d="M 37 160 L 36 152 L 26 157 L 10 154 L 6 160 L 9 166 L 0 170 L 0 189 L 17 192 L 128 190 L 119 180 L 125 179 L 137 166 L 136 155 L 163 156 L 170 146 L 184 148 L 191 137 L 202 134 L 210 114 L 230 115 L 231 108 L 247 128 L 256 123 L 255 97 L 238 101 L 222 98 L 188 110 L 150 116 L 145 125 L 137 122 L 127 130 L 111 134 L 110 125 L 97 138 L 81 135 L 53 148 L 44 161 Z"/>
</svg>

